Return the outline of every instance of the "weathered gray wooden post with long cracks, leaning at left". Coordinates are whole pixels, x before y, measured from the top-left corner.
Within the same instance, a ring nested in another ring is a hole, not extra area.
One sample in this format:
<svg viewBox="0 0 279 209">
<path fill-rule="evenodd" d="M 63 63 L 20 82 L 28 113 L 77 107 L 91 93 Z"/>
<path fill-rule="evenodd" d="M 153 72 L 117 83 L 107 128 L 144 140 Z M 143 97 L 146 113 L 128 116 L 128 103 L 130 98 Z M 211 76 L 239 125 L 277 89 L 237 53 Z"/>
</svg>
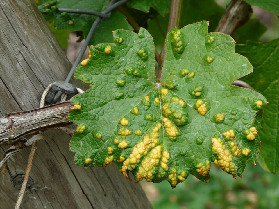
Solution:
<svg viewBox="0 0 279 209">
<path fill-rule="evenodd" d="M 35 1 L 0 1 L 0 19 L 3 116 L 39 107 L 43 90 L 54 81 L 64 80 L 71 64 Z M 72 83 L 81 87 L 76 80 Z M 74 166 L 74 153 L 69 152 L 68 146 L 71 136 L 55 130 L 44 133 L 46 140 L 37 144 L 21 208 L 152 208 L 140 184 L 125 179 L 115 165 L 89 169 Z M 0 155 L 8 148 L 1 145 Z M 13 185 L 8 175 L 0 174 L 0 207 L 15 206 L 29 152 L 30 147 L 23 149 L 8 162 L 19 185 Z"/>
</svg>

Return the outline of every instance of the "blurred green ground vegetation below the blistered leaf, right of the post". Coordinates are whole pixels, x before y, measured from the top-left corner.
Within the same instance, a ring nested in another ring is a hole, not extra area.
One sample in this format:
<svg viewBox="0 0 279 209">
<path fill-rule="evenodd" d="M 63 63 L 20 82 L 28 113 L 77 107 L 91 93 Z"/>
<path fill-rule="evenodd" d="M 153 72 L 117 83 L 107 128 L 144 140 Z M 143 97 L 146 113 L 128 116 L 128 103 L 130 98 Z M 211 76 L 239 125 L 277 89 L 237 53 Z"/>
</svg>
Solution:
<svg viewBox="0 0 279 209">
<path fill-rule="evenodd" d="M 190 175 L 172 189 L 169 182 L 142 182 L 154 209 L 257 209 L 279 208 L 279 174 L 247 164 L 237 180 L 216 165 L 210 167 L 210 180 L 204 183 Z"/>
</svg>

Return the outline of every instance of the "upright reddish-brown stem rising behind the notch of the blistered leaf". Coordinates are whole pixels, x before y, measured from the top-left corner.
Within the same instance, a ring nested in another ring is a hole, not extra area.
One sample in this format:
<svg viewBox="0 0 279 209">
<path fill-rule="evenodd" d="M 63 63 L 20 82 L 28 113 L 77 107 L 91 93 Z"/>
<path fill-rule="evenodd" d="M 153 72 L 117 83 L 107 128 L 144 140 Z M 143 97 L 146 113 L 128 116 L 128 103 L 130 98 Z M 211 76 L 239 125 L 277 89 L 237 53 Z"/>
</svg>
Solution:
<svg viewBox="0 0 279 209">
<path fill-rule="evenodd" d="M 179 28 L 181 8 L 182 8 L 182 0 L 172 0 L 171 1 L 171 12 L 169 15 L 169 25 L 168 25 L 167 33 L 169 33 L 169 31 L 174 27 Z M 162 51 L 159 55 L 159 60 L 158 60 L 159 69 L 158 69 L 158 74 L 157 74 L 157 80 L 160 80 L 161 76 L 162 76 L 164 57 L 165 57 L 165 43 L 164 43 Z"/>
</svg>

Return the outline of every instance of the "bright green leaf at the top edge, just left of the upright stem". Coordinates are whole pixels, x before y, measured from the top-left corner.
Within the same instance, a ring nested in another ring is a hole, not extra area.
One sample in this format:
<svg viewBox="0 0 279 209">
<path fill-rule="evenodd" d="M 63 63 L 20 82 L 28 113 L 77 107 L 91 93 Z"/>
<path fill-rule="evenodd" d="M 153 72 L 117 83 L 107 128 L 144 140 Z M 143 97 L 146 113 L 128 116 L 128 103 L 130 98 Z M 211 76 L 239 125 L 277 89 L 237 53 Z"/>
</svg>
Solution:
<svg viewBox="0 0 279 209">
<path fill-rule="evenodd" d="M 127 4 L 128 6 L 143 12 L 149 12 L 150 7 L 153 7 L 162 16 L 171 9 L 171 0 L 131 0 L 128 1 Z"/>
</svg>

